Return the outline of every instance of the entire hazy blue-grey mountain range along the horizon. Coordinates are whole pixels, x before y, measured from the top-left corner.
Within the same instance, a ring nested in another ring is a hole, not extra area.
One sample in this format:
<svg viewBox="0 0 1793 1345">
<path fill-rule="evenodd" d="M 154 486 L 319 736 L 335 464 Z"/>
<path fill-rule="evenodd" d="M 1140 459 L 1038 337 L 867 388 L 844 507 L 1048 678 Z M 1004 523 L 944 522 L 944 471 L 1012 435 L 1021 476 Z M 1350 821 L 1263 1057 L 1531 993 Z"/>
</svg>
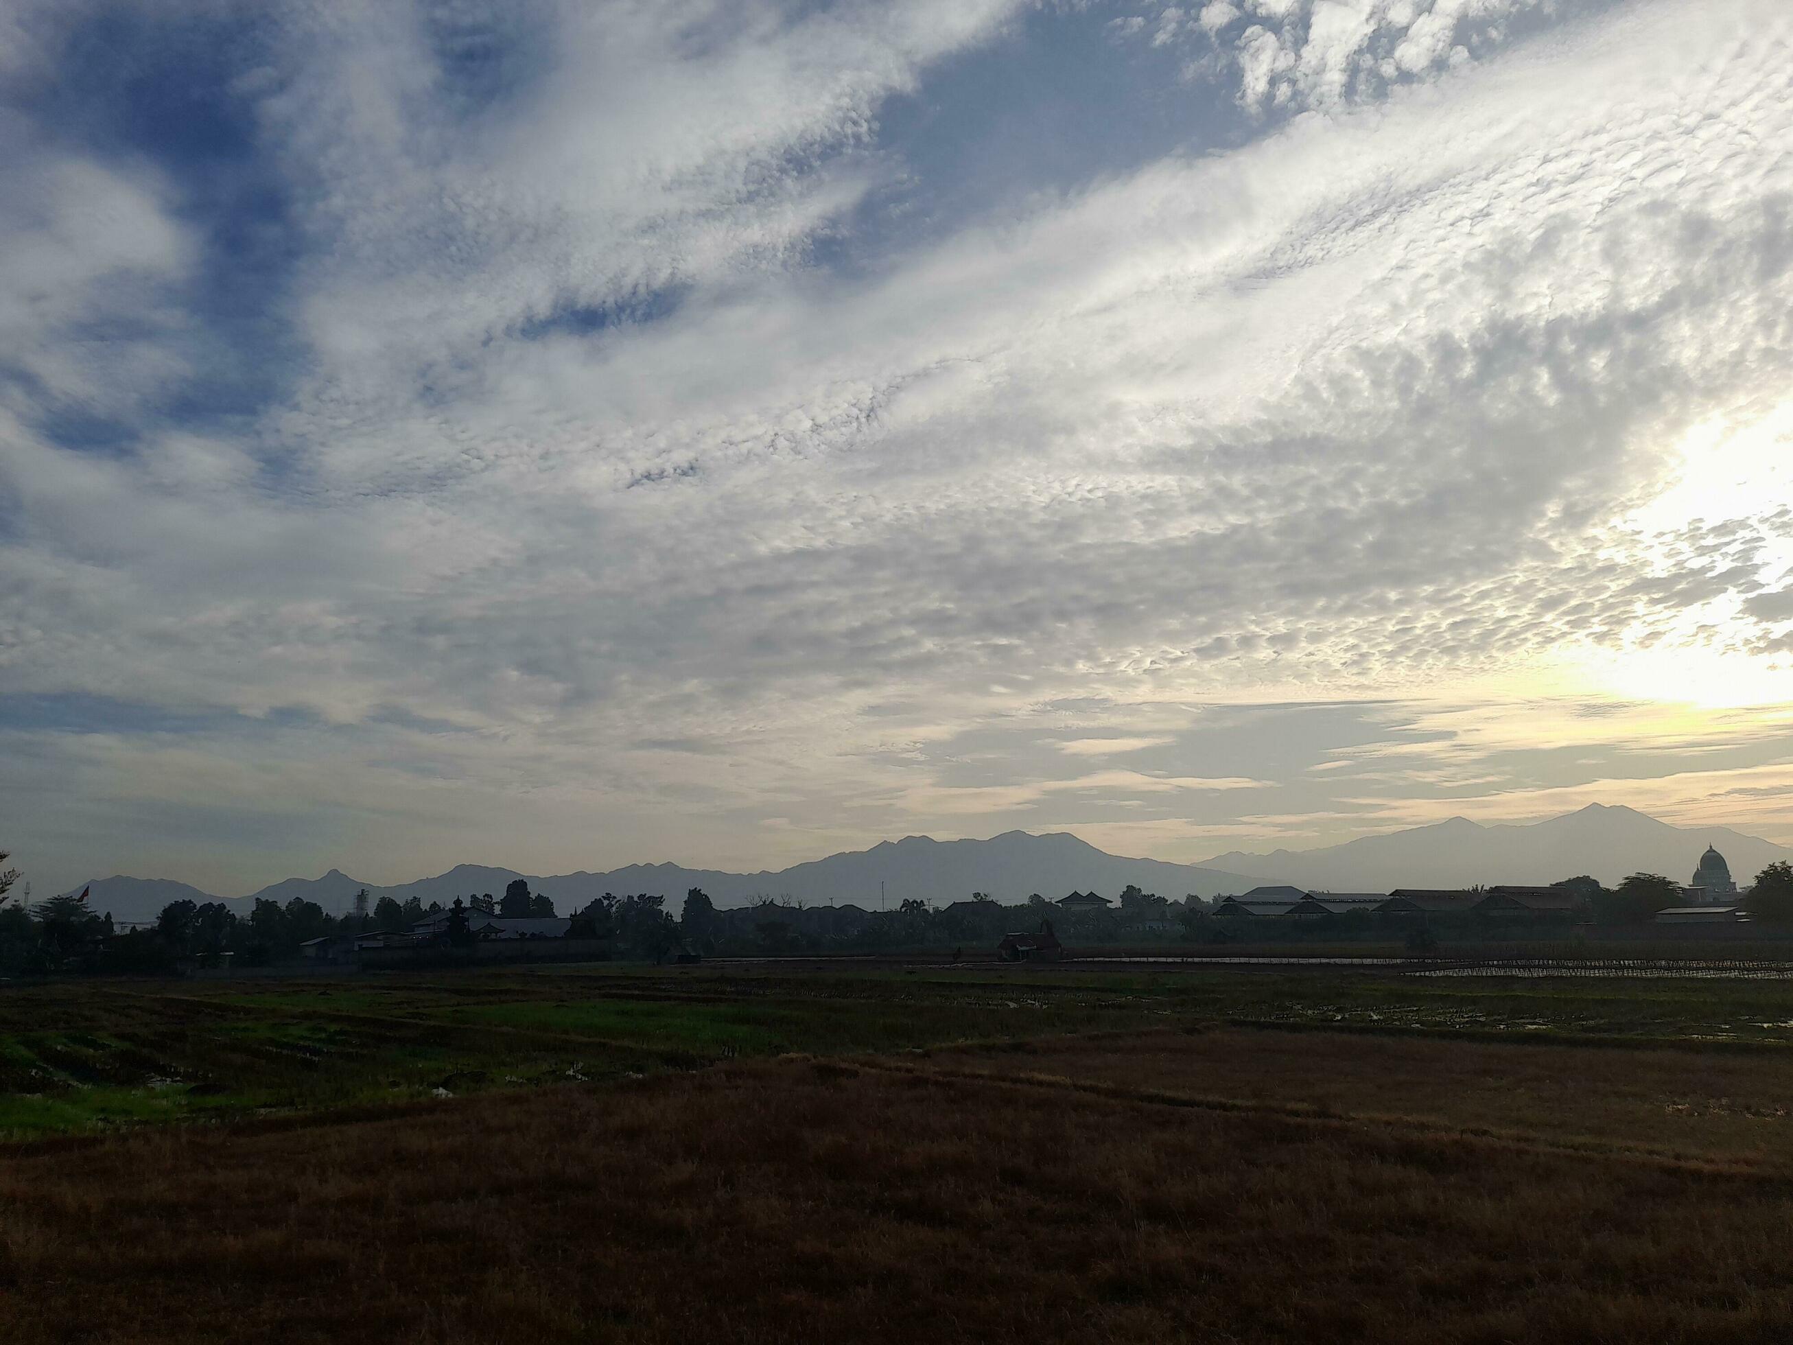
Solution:
<svg viewBox="0 0 1793 1345">
<path fill-rule="evenodd" d="M 1393 888 L 1467 888 L 1477 882 L 1542 884 L 1592 873 L 1614 884 L 1626 873 L 1667 873 L 1685 882 L 1707 845 L 1718 846 L 1739 884 L 1793 850 L 1727 827 L 1682 829 L 1635 809 L 1590 803 L 1580 812 L 1529 825 L 1483 827 L 1452 818 L 1382 836 L 1364 836 L 1318 850 L 1234 850 L 1203 864 L 1130 859 L 1097 850 L 1067 832 L 1033 836 L 1004 832 L 988 841 L 936 841 L 905 836 L 870 850 L 848 850 L 778 872 L 726 873 L 680 864 L 629 864 L 608 873 L 529 875 L 509 868 L 459 864 L 416 882 L 378 886 L 332 868 L 321 879 L 285 879 L 256 893 L 219 898 L 169 879 L 97 879 L 90 906 L 117 920 L 152 920 L 172 900 L 228 900 L 247 913 L 256 898 L 285 906 L 294 897 L 341 915 L 368 888 L 369 900 L 416 897 L 450 904 L 475 893 L 500 895 L 513 879 L 547 893 L 565 915 L 601 893 L 663 893 L 678 913 L 685 891 L 703 888 L 717 906 L 746 906 L 760 897 L 825 906 L 855 902 L 868 909 L 895 907 L 905 898 L 934 904 L 988 891 L 1018 902 L 1029 893 L 1061 897 L 1067 891 L 1117 895 L 1130 882 L 1162 897 L 1216 897 L 1264 882 L 1289 882 L 1323 891 L 1390 891 Z M 79 888 L 75 888 L 79 891 Z"/>
</svg>

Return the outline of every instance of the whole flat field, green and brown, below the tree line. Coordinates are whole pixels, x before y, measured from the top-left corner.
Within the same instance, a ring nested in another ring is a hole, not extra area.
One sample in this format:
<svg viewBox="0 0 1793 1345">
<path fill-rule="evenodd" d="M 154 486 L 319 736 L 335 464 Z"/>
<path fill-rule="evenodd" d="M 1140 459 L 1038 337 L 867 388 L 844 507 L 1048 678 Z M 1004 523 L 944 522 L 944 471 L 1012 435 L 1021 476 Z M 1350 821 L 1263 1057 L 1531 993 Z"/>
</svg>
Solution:
<svg viewBox="0 0 1793 1345">
<path fill-rule="evenodd" d="M 1786 981 L 0 992 L 20 1341 L 1784 1341 Z"/>
</svg>

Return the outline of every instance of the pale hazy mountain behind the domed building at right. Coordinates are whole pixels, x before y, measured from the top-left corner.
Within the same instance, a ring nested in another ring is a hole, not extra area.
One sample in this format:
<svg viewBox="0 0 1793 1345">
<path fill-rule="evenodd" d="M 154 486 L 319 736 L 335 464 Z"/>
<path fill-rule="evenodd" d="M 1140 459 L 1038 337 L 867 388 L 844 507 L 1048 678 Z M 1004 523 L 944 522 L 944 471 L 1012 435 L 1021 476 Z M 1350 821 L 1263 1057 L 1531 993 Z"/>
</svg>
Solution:
<svg viewBox="0 0 1793 1345">
<path fill-rule="evenodd" d="M 1330 891 L 1467 888 L 1477 882 L 1542 884 L 1592 873 L 1612 886 L 1626 873 L 1666 873 L 1687 882 L 1705 846 L 1718 846 L 1739 886 L 1793 850 L 1728 827 L 1671 827 L 1628 807 L 1589 803 L 1529 825 L 1483 827 L 1451 818 L 1431 827 L 1364 836 L 1320 850 L 1232 850 L 1216 868 Z"/>
</svg>

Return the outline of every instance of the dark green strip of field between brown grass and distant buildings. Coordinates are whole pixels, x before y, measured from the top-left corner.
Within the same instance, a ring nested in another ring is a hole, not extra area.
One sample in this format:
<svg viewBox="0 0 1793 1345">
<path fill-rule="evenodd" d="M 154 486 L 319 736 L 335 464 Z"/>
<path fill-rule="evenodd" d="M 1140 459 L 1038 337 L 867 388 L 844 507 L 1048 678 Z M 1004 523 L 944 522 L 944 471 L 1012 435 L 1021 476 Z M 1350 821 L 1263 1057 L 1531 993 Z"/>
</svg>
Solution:
<svg viewBox="0 0 1793 1345">
<path fill-rule="evenodd" d="M 531 967 L 0 994 L 0 1133 L 307 1112 L 726 1056 L 1262 1022 L 1793 1044 L 1793 983 L 1488 981 L 1217 967 Z M 445 1087 L 446 1081 L 446 1087 Z M 203 1092 L 192 1092 L 194 1087 Z"/>
</svg>

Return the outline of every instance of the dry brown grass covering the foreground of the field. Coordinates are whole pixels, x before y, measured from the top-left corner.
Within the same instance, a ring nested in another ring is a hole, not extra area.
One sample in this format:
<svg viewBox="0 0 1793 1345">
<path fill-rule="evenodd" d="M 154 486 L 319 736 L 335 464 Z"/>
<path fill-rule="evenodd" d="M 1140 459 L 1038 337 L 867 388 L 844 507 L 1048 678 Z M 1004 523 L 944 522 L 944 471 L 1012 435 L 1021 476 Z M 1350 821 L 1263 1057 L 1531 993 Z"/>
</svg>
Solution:
<svg viewBox="0 0 1793 1345">
<path fill-rule="evenodd" d="M 1628 1089 L 1685 1072 L 1655 1054 L 1691 1053 L 1149 1035 L 20 1150 L 0 1157 L 0 1334 L 1788 1340 L 1779 1155 L 1555 1144 L 1605 1124 L 1555 1126 L 1562 1098 L 1623 1124 Z M 1725 1089 L 1761 1069 L 1694 1063 Z M 1580 1083 L 1538 1092 L 1551 1069 Z M 1088 1087 L 956 1076 L 974 1071 Z M 1408 1121 L 1300 1114 L 1332 1074 L 1330 1110 Z M 1433 1094 L 1359 1106 L 1395 1085 Z M 1176 1105 L 1253 1089 L 1246 1110 Z M 1501 1094 L 1533 1099 L 1508 1119 L 1535 1142 L 1461 1133 Z"/>
</svg>

